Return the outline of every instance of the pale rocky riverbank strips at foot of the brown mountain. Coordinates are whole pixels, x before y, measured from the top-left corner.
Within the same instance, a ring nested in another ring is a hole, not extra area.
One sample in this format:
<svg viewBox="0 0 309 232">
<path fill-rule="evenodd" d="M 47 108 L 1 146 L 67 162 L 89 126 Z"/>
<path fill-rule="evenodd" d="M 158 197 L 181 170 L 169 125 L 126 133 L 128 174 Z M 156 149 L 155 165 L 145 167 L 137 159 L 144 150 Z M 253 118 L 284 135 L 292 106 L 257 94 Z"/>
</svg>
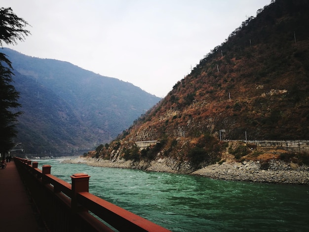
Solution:
<svg viewBox="0 0 309 232">
<path fill-rule="evenodd" d="M 151 163 L 140 162 L 138 166 L 132 166 L 132 161 L 119 160 L 112 162 L 110 160 L 86 157 L 68 159 L 63 162 L 85 163 L 100 167 L 138 168 L 146 171 L 177 173 L 172 167 L 165 165 L 162 160 L 152 161 Z M 222 164 L 217 163 L 206 166 L 190 174 L 213 179 L 309 185 L 309 166 L 298 166 L 295 163 L 286 163 L 278 159 L 271 159 L 267 161 L 266 164 L 267 165 L 265 165 L 265 162 L 253 160 L 223 162 Z"/>
</svg>

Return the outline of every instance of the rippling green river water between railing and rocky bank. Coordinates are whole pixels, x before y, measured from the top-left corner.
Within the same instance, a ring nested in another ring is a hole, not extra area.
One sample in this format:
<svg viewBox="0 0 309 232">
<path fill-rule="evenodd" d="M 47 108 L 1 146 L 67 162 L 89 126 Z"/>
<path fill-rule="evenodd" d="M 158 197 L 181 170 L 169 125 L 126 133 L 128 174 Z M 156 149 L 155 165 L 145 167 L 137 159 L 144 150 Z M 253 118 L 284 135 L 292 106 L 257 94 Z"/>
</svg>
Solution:
<svg viewBox="0 0 309 232">
<path fill-rule="evenodd" d="M 61 163 L 51 174 L 71 183 L 90 175 L 89 192 L 173 232 L 309 231 L 309 186 Z M 34 161 L 34 160 L 33 160 Z"/>
</svg>

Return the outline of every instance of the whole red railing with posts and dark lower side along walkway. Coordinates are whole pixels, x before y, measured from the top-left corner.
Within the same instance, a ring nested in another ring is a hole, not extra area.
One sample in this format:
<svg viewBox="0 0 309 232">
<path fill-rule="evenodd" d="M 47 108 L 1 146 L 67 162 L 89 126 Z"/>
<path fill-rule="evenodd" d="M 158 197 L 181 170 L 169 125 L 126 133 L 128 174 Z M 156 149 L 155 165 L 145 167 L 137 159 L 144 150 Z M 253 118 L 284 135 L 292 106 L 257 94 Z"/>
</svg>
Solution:
<svg viewBox="0 0 309 232">
<path fill-rule="evenodd" d="M 153 222 L 89 193 L 90 176 L 87 174 L 72 175 L 71 185 L 51 175 L 50 165 L 43 165 L 40 170 L 38 162 L 18 157 L 14 161 L 50 231 L 168 232 Z"/>
</svg>

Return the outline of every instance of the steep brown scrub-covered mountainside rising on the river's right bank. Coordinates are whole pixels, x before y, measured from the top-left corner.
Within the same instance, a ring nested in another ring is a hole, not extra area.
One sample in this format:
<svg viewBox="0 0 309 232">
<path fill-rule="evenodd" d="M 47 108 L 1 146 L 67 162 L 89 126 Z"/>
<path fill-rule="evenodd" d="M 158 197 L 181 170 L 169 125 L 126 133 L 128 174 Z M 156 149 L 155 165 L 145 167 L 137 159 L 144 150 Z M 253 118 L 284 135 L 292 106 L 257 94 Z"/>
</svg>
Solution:
<svg viewBox="0 0 309 232">
<path fill-rule="evenodd" d="M 220 141 L 220 131 L 224 140 L 308 140 L 308 25 L 307 0 L 272 1 L 110 146 L 91 155 L 192 170 L 222 158 L 230 144 Z M 139 151 L 136 141 L 157 143 Z"/>
</svg>

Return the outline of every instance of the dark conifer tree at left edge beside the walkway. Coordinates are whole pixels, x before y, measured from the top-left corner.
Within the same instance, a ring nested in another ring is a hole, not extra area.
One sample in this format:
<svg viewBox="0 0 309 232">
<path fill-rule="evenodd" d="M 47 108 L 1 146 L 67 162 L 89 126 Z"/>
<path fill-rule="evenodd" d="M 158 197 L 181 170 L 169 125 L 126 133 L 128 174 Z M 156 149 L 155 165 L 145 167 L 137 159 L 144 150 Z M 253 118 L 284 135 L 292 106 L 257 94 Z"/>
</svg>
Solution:
<svg viewBox="0 0 309 232">
<path fill-rule="evenodd" d="M 23 41 L 30 32 L 24 28 L 29 25 L 24 19 L 19 18 L 8 8 L 0 8 L 0 46 L 3 43 L 17 44 Z M 14 145 L 16 137 L 17 117 L 21 112 L 13 112 L 14 108 L 21 105 L 17 102 L 19 93 L 12 85 L 12 65 L 5 54 L 0 52 L 0 154 L 2 160 L 5 153 Z"/>
</svg>

